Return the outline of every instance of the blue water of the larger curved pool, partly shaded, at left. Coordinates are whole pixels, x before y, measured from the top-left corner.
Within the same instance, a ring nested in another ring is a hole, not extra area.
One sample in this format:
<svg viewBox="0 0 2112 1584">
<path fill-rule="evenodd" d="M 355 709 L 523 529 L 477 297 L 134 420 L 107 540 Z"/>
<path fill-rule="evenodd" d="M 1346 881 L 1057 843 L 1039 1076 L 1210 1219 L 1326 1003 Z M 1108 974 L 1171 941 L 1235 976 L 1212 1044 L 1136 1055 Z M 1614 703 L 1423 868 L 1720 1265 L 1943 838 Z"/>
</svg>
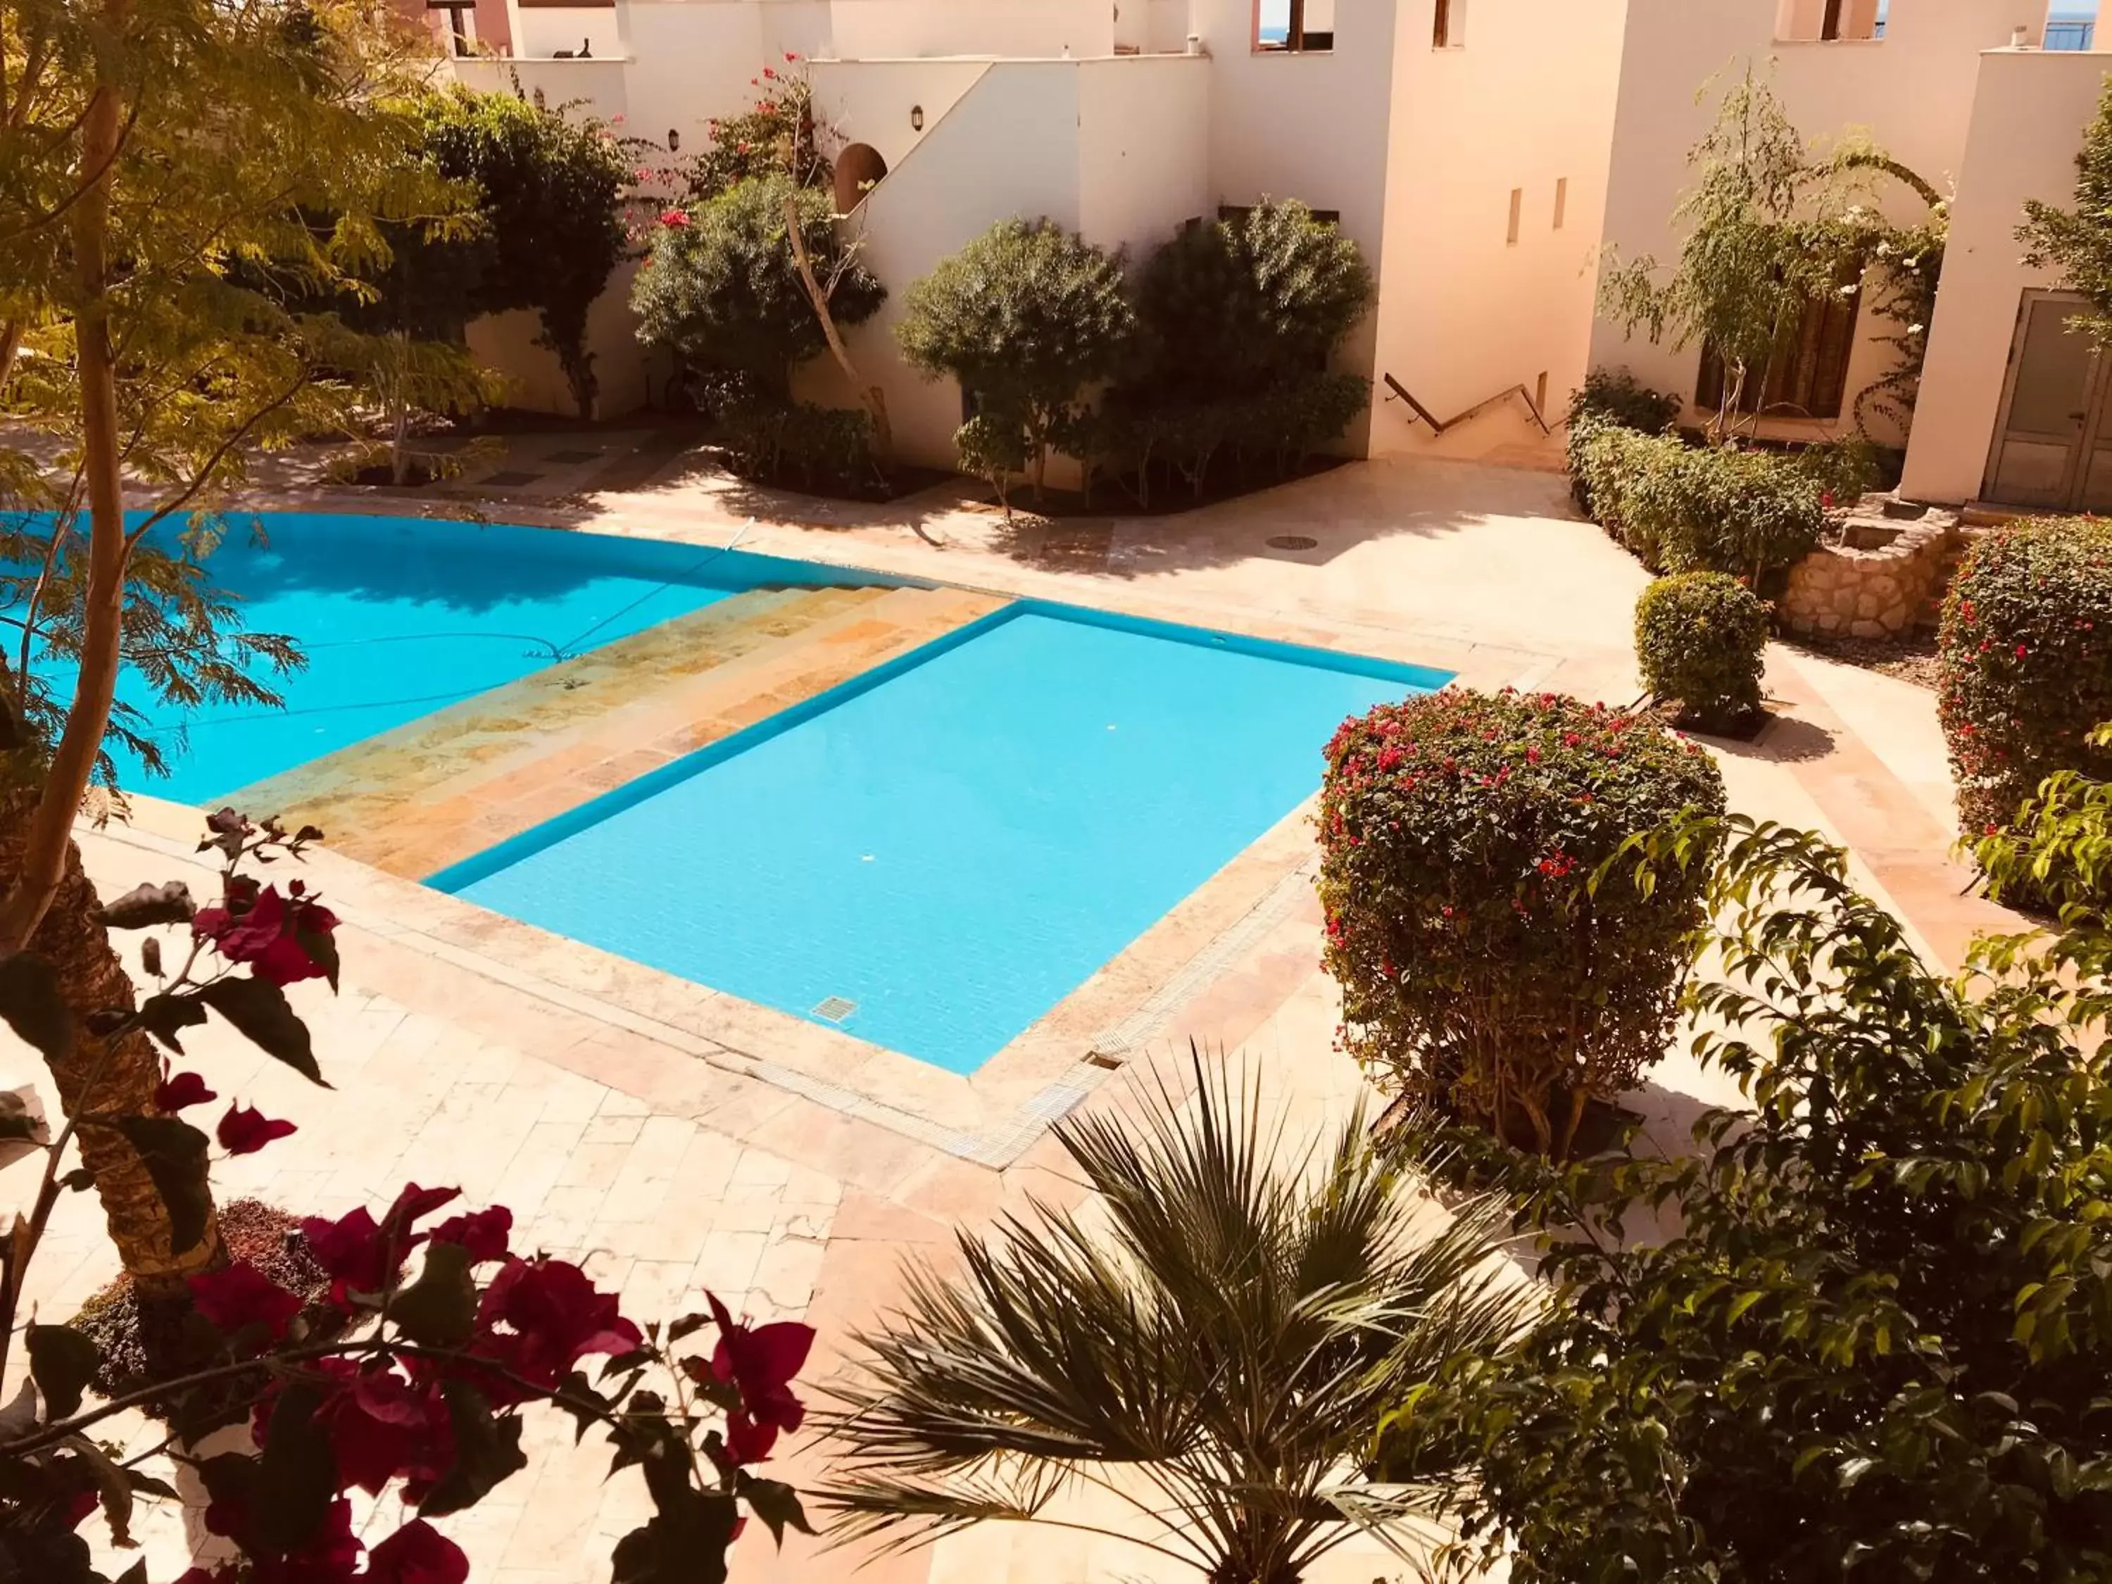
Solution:
<svg viewBox="0 0 2112 1584">
<path fill-rule="evenodd" d="M 872 581 L 699 545 L 507 524 L 264 513 L 205 560 L 251 631 L 289 634 L 306 667 L 264 676 L 283 710 L 158 703 L 127 667 L 118 697 L 146 714 L 171 765 L 148 777 L 118 752 L 118 784 L 209 803 L 458 699 L 610 644 L 762 583 Z M 72 676 L 53 674 L 63 693 Z"/>
</svg>

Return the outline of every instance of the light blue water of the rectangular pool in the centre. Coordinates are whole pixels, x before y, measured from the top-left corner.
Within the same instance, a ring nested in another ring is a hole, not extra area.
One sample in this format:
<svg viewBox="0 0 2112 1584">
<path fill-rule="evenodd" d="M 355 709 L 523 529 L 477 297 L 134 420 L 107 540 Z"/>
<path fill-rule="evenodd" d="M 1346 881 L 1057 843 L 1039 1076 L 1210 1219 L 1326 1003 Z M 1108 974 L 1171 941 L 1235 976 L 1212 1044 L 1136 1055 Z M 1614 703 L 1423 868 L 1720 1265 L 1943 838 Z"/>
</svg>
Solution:
<svg viewBox="0 0 2112 1584">
<path fill-rule="evenodd" d="M 1445 680 L 1016 604 L 431 883 L 969 1073 Z"/>
</svg>

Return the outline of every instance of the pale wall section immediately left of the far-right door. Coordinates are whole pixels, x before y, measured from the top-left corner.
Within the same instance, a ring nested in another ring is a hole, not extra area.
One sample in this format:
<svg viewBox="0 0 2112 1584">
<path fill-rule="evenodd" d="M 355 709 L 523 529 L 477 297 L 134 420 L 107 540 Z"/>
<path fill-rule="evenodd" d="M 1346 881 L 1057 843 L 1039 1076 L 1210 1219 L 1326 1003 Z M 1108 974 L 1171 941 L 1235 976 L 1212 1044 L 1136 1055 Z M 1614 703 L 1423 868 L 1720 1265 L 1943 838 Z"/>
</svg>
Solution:
<svg viewBox="0 0 2112 1584">
<path fill-rule="evenodd" d="M 1970 501 L 1981 492 L 2002 380 L 2028 287 L 2047 270 L 2017 260 L 2023 201 L 2072 205 L 2076 150 L 2112 55 L 1990 51 L 1979 57 L 1973 131 L 1928 329 L 1922 395 L 1901 492 Z"/>
</svg>

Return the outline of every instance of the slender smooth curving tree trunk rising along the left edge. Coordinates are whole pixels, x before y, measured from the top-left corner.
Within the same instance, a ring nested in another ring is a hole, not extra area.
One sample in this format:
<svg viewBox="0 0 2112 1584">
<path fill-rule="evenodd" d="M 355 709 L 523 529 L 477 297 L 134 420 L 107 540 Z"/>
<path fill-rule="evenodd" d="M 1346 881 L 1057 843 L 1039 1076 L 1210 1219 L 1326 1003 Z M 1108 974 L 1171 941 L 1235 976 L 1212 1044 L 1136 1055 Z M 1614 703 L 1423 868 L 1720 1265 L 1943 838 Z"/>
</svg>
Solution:
<svg viewBox="0 0 2112 1584">
<path fill-rule="evenodd" d="M 116 25 L 122 6 L 110 6 Z M 108 70 L 108 68 L 106 68 Z M 89 589 L 82 602 L 80 678 L 74 708 L 51 756 L 42 796 L 30 815 L 6 898 L 0 900 L 0 950 L 19 948 L 51 906 L 72 847 L 74 813 L 89 790 L 95 756 L 110 729 L 118 684 L 118 638 L 125 610 L 125 477 L 118 439 L 116 363 L 110 353 L 110 165 L 122 137 L 118 89 L 97 82 L 80 125 L 80 169 L 95 175 L 70 213 L 74 283 L 74 361 L 80 374 L 82 479 L 89 488 Z"/>
</svg>

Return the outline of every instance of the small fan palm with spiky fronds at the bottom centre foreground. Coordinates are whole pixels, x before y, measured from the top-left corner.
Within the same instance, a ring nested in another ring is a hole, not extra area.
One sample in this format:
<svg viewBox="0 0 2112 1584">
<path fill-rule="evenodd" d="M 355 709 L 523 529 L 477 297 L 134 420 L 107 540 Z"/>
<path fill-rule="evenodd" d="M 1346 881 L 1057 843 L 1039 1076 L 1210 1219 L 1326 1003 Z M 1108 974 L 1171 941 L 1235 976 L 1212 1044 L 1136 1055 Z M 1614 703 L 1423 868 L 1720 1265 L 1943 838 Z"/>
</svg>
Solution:
<svg viewBox="0 0 2112 1584">
<path fill-rule="evenodd" d="M 1105 1229 L 1035 1202 L 961 1233 L 963 1274 L 912 1267 L 904 1307 L 857 1337 L 824 1415 L 838 1538 L 1039 1519 L 1138 1540 L 1050 1512 L 1096 1487 L 1147 1521 L 1138 1544 L 1212 1584 L 1293 1584 L 1358 1527 L 1398 1548 L 1462 1478 L 1468 1447 L 1421 1407 L 1394 1483 L 1362 1470 L 1445 1360 L 1519 1331 L 1500 1212 L 1447 1219 L 1362 1105 L 1286 1151 L 1244 1077 L 1191 1058 L 1189 1105 L 1162 1083 L 1134 1126 L 1058 1124 Z"/>
</svg>

